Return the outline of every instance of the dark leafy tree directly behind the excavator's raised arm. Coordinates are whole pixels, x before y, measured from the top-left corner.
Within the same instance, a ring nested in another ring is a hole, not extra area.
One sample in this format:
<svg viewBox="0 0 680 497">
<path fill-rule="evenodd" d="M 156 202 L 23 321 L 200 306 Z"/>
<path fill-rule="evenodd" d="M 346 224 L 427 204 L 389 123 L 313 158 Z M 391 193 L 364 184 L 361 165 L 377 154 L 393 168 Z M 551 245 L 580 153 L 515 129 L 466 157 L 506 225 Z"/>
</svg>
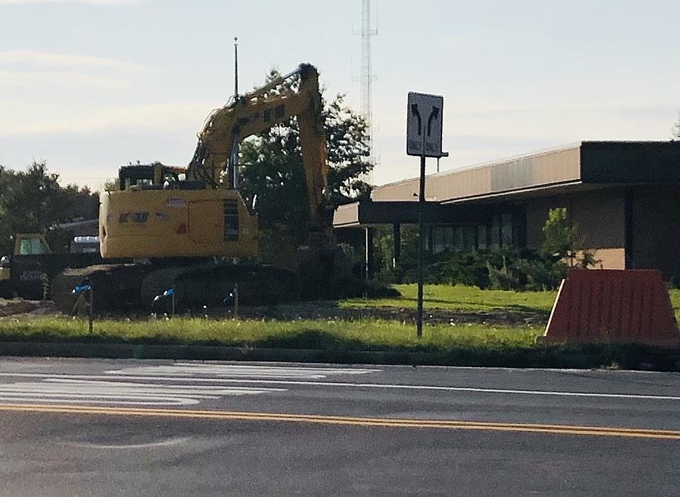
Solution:
<svg viewBox="0 0 680 497">
<path fill-rule="evenodd" d="M 267 82 L 279 76 L 272 70 Z M 297 81 L 286 83 L 294 88 Z M 368 128 L 364 119 L 345 103 L 343 94 L 323 102 L 323 119 L 328 142 L 328 199 L 331 205 L 364 198 L 370 186 L 361 180 L 373 168 L 368 158 Z M 265 133 L 241 144 L 241 194 L 255 204 L 260 225 L 287 226 L 303 230 L 309 221 L 296 119 L 272 126 Z"/>
</svg>

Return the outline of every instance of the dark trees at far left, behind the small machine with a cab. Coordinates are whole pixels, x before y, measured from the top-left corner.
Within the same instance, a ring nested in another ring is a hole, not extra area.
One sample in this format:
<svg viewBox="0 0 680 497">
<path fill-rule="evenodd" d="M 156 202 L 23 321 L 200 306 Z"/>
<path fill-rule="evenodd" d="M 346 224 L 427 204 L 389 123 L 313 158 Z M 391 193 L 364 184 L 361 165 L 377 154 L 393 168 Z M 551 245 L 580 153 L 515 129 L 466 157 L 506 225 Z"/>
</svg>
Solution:
<svg viewBox="0 0 680 497">
<path fill-rule="evenodd" d="M 45 161 L 25 171 L 0 166 L 0 253 L 12 251 L 15 233 L 44 233 L 51 226 L 74 219 L 96 218 L 99 199 L 87 187 L 62 187 L 59 175 Z"/>
</svg>

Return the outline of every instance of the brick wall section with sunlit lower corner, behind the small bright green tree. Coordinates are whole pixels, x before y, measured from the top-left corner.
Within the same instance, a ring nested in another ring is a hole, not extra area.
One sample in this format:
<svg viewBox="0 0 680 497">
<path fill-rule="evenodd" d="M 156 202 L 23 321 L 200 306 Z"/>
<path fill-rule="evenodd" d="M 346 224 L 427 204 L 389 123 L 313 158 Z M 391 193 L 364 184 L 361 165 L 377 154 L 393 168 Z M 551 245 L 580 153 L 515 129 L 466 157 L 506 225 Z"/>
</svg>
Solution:
<svg viewBox="0 0 680 497">
<path fill-rule="evenodd" d="M 625 268 L 624 189 L 611 187 L 588 192 L 532 199 L 525 203 L 527 246 L 543 244 L 543 226 L 552 208 L 567 208 L 577 226 L 577 249 L 588 250 L 605 269 Z"/>
</svg>

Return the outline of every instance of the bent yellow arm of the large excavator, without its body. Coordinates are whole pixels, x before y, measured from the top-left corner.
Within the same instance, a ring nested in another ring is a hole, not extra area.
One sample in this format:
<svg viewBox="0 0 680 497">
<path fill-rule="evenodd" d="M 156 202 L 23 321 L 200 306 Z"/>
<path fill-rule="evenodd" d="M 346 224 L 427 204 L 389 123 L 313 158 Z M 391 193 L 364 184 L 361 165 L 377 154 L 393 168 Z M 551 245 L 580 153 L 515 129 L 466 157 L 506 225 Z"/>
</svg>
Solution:
<svg viewBox="0 0 680 497">
<path fill-rule="evenodd" d="M 282 87 L 285 81 L 296 75 L 300 76 L 297 91 L 284 88 L 278 94 L 271 94 L 272 90 Z M 189 177 L 204 180 L 214 187 L 235 187 L 232 168 L 236 158 L 232 155 L 238 144 L 248 136 L 262 133 L 275 124 L 296 117 L 300 126 L 300 146 L 303 149 L 312 223 L 322 226 L 328 152 L 321 110 L 318 72 L 309 64 L 300 65 L 290 74 L 280 76 L 253 92 L 237 96 L 208 117 L 198 134 L 196 153 L 189 163 Z"/>
</svg>

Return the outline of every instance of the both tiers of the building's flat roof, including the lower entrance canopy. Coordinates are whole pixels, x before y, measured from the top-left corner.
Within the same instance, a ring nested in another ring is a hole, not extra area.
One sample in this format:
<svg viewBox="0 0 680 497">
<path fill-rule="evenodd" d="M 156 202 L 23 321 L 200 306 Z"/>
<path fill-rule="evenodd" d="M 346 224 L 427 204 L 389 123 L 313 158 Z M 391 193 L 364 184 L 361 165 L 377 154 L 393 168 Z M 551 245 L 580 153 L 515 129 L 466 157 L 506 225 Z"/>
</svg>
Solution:
<svg viewBox="0 0 680 497">
<path fill-rule="evenodd" d="M 374 187 L 372 202 L 338 208 L 334 226 L 414 222 L 418 182 Z M 478 203 L 654 183 L 680 185 L 680 141 L 578 142 L 427 176 L 427 219 L 453 214 L 447 208 L 454 205 L 457 219 L 473 221 L 484 214 Z"/>
</svg>

